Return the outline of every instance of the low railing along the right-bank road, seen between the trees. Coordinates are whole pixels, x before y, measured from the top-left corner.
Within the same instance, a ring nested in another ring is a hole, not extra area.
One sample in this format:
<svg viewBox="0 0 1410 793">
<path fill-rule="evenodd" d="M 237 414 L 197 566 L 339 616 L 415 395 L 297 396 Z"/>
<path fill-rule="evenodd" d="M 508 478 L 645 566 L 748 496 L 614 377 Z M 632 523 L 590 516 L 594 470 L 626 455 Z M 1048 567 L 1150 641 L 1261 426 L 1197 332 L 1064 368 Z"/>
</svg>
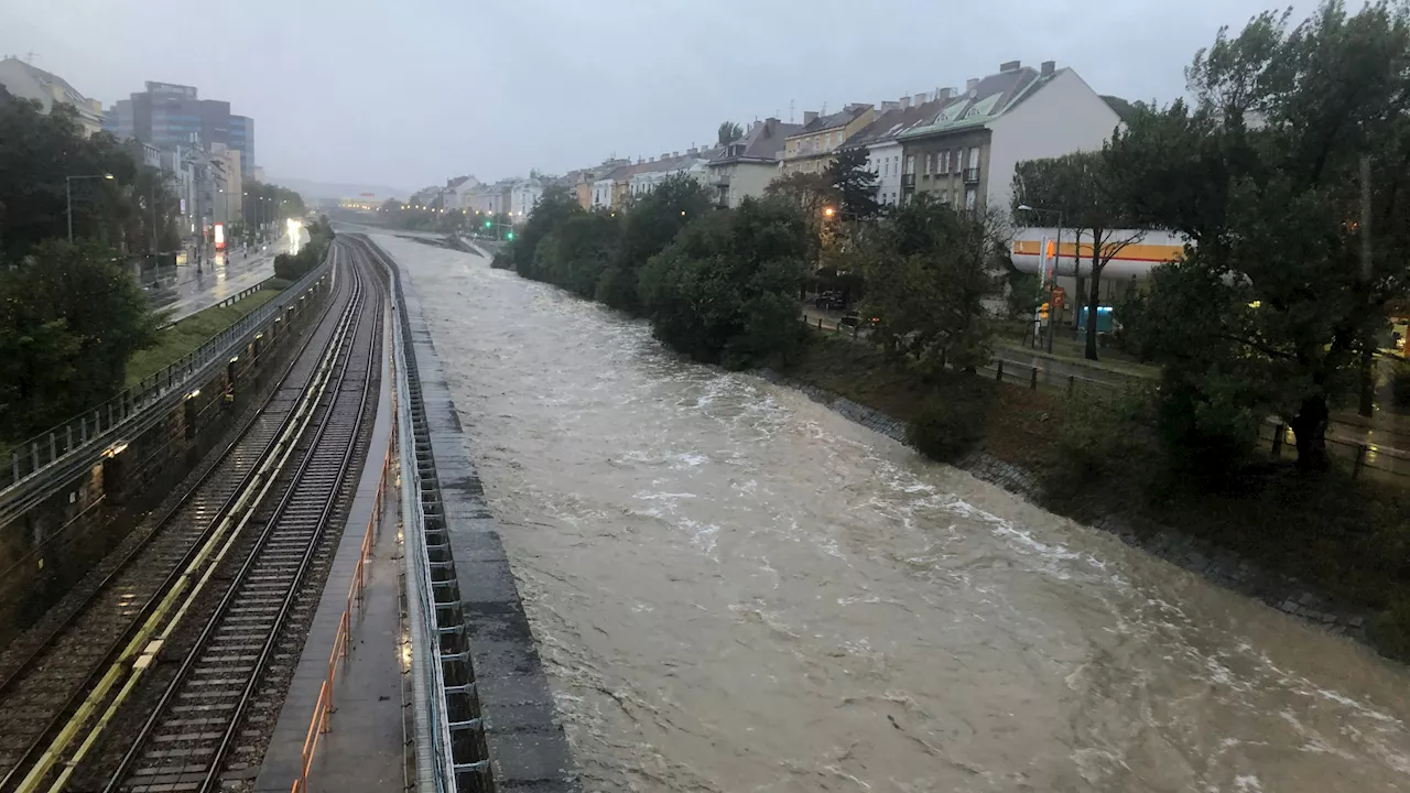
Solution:
<svg viewBox="0 0 1410 793">
<path fill-rule="evenodd" d="M 809 327 L 812 326 L 807 316 L 804 316 L 802 322 Z M 857 326 L 843 330 L 842 325 L 833 323 L 832 327 L 828 327 L 823 325 L 822 317 L 818 317 L 816 327 L 823 332 L 833 330 L 843 336 L 850 334 L 852 339 L 860 337 Z M 1076 396 L 1079 389 L 1097 395 L 1110 395 L 1112 391 L 1122 388 L 1122 385 L 1110 380 L 1079 374 L 1055 374 L 1043 367 L 1008 360 L 1001 356 L 994 356 L 990 363 L 980 367 L 980 371 L 998 382 L 1026 385 L 1032 391 L 1038 391 L 1038 387 L 1042 385 L 1052 391 L 1060 391 L 1069 398 Z M 1337 428 L 1344 426 L 1347 425 L 1337 425 Z M 1269 418 L 1259 426 L 1258 439 L 1261 447 L 1266 447 L 1275 460 L 1280 457 L 1282 447 L 1293 440 L 1292 430 L 1276 418 Z M 1328 432 L 1325 439 L 1328 454 L 1332 460 L 1349 464 L 1352 478 L 1375 476 L 1382 481 L 1410 487 L 1410 452 L 1380 443 L 1371 443 L 1369 440 L 1349 440 L 1338 436 L 1335 432 Z"/>
</svg>

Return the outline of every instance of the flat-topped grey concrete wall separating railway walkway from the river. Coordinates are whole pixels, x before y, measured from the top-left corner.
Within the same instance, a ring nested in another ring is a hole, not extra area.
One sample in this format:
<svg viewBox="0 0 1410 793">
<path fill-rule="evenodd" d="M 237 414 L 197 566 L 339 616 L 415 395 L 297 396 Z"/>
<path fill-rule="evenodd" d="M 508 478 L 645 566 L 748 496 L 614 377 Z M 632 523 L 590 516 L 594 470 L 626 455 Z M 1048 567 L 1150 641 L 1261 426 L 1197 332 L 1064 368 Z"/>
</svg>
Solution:
<svg viewBox="0 0 1410 793">
<path fill-rule="evenodd" d="M 495 790 L 581 790 L 567 737 L 554 720 L 553 693 L 499 523 L 485 504 L 479 473 L 465 450 L 420 299 L 410 279 L 400 282 L 399 310 L 420 380 Z"/>
</svg>

